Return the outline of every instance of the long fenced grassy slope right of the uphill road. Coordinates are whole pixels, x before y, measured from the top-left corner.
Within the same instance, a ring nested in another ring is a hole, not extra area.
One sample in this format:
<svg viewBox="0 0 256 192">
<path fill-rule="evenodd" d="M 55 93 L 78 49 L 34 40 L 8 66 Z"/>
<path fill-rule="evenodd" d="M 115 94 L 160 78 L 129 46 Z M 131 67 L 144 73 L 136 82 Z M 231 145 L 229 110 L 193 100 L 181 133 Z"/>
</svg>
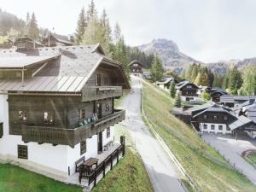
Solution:
<svg viewBox="0 0 256 192">
<path fill-rule="evenodd" d="M 154 130 L 163 138 L 200 191 L 256 191 L 256 186 L 230 168 L 207 143 L 170 113 L 173 99 L 143 81 L 143 110 Z"/>
</svg>

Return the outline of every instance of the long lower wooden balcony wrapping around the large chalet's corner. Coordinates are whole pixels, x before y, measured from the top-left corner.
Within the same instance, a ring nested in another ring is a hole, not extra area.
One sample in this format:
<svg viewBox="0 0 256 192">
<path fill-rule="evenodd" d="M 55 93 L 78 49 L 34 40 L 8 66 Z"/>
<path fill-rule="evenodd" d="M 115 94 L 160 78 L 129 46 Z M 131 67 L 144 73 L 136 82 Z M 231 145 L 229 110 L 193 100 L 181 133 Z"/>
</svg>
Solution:
<svg viewBox="0 0 256 192">
<path fill-rule="evenodd" d="M 53 145 L 69 145 L 74 147 L 86 138 L 92 137 L 125 119 L 125 110 L 116 110 L 114 113 L 98 119 L 89 125 L 75 129 L 64 129 L 47 126 L 21 126 L 21 136 L 24 143 L 51 143 Z"/>
</svg>

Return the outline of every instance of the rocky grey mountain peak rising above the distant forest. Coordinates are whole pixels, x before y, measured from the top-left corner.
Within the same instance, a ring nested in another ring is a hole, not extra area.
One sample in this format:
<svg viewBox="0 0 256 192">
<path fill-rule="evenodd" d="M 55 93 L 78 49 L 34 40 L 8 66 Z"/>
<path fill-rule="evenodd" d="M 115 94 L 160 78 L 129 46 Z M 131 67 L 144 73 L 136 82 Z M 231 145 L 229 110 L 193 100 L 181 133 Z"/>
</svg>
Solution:
<svg viewBox="0 0 256 192">
<path fill-rule="evenodd" d="M 147 54 L 156 53 L 160 55 L 163 66 L 166 69 L 174 70 L 176 73 L 181 73 L 184 67 L 188 67 L 193 62 L 198 62 L 180 52 L 175 42 L 165 38 L 154 39 L 149 44 L 138 46 L 138 49 Z"/>
</svg>

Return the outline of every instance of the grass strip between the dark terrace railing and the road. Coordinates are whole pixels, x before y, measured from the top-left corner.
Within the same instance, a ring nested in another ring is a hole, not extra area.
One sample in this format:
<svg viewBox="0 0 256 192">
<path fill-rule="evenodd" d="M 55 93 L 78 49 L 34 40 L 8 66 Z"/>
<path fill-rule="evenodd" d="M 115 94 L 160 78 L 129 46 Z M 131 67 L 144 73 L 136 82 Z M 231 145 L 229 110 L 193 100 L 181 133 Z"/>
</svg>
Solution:
<svg viewBox="0 0 256 192">
<path fill-rule="evenodd" d="M 92 192 L 153 192 L 148 174 L 143 166 L 139 154 L 134 149 L 134 143 L 125 127 L 115 126 L 115 138 L 125 136 L 126 148 L 125 157 L 119 164 L 113 166 L 113 170 L 108 172 Z"/>
</svg>

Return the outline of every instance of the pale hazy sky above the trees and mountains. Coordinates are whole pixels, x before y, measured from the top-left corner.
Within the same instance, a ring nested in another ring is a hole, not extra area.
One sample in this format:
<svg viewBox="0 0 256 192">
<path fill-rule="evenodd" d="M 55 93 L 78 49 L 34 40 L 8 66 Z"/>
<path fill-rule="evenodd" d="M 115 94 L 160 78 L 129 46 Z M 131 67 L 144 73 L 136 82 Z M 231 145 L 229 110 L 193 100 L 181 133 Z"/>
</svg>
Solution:
<svg viewBox="0 0 256 192">
<path fill-rule="evenodd" d="M 0 7 L 25 19 L 35 12 L 39 26 L 74 32 L 80 9 L 89 0 L 0 0 Z M 95 0 L 111 25 L 118 21 L 130 45 L 154 38 L 175 41 L 199 61 L 256 56 L 255 0 Z"/>
</svg>

